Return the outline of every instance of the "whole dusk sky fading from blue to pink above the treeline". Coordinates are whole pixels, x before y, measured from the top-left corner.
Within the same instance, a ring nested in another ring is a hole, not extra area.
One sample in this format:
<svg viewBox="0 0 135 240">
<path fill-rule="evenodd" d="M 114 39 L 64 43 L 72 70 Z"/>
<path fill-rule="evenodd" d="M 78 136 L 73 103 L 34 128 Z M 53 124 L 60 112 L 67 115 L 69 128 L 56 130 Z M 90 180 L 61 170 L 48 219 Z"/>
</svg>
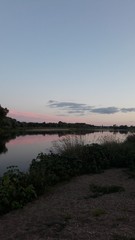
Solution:
<svg viewBox="0 0 135 240">
<path fill-rule="evenodd" d="M 135 125 L 135 0 L 0 0 L 0 104 L 19 121 Z"/>
</svg>

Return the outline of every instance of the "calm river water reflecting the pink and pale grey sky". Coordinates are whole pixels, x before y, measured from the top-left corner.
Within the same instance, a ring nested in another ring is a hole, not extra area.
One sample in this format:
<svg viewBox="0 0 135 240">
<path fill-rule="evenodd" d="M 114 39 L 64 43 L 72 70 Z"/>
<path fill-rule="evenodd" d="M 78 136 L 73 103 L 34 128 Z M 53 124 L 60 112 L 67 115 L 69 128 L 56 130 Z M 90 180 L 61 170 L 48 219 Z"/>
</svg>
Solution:
<svg viewBox="0 0 135 240">
<path fill-rule="evenodd" d="M 74 135 L 70 135 L 71 137 Z M 65 136 L 58 134 L 36 134 L 18 136 L 15 139 L 4 142 L 5 153 L 0 154 L 0 175 L 2 175 L 7 166 L 16 165 L 21 171 L 27 171 L 32 159 L 36 158 L 38 153 L 49 153 L 54 142 L 58 142 Z M 101 139 L 109 137 L 124 140 L 127 134 L 113 132 L 95 132 L 81 135 L 85 143 L 100 143 Z M 1 141 L 2 142 L 2 141 Z M 1 151 L 2 152 L 2 151 Z"/>
</svg>

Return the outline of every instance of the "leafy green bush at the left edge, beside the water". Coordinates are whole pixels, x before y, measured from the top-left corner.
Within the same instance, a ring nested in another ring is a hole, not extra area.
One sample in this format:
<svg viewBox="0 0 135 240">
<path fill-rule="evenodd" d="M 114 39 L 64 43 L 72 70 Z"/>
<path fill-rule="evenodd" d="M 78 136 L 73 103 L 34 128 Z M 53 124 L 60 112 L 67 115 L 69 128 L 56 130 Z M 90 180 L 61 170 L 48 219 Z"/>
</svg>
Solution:
<svg viewBox="0 0 135 240">
<path fill-rule="evenodd" d="M 27 175 L 14 166 L 9 167 L 0 179 L 0 214 L 21 208 L 34 198 L 36 192 Z"/>
</svg>

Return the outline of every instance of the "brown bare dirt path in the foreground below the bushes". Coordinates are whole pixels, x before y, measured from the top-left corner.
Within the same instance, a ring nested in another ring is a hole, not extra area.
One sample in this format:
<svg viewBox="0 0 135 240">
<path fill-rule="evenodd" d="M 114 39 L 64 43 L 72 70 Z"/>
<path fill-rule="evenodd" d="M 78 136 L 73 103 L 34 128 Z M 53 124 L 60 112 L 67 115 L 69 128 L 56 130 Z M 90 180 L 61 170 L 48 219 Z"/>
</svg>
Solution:
<svg viewBox="0 0 135 240">
<path fill-rule="evenodd" d="M 90 198 L 91 183 L 123 186 L 125 192 Z M 0 217 L 0 240 L 130 240 L 131 237 L 135 239 L 135 180 L 121 169 L 76 177 L 23 209 Z"/>
</svg>

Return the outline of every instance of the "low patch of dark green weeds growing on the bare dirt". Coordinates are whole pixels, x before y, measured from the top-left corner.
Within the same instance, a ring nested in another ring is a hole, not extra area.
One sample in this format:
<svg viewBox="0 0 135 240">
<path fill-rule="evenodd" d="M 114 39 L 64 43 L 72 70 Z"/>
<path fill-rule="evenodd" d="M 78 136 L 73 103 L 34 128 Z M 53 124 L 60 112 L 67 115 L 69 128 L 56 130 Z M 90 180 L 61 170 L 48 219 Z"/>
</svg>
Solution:
<svg viewBox="0 0 135 240">
<path fill-rule="evenodd" d="M 93 193 L 91 197 L 96 198 L 100 197 L 104 194 L 110 194 L 110 193 L 116 193 L 116 192 L 122 192 L 125 189 L 121 186 L 117 185 L 106 185 L 106 186 L 100 186 L 96 184 L 90 184 L 90 191 Z"/>
</svg>

